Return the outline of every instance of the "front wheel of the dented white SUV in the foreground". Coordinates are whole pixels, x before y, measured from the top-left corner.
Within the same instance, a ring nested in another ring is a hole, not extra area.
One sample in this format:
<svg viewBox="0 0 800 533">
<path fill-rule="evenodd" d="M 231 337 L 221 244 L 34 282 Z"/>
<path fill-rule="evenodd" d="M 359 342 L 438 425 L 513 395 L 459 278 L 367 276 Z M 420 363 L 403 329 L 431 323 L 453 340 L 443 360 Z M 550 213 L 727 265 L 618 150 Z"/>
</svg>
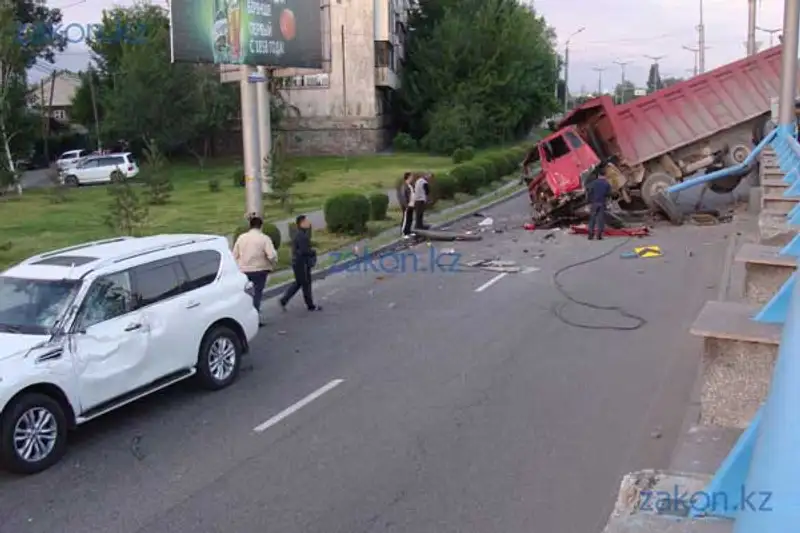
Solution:
<svg viewBox="0 0 800 533">
<path fill-rule="evenodd" d="M 49 396 L 23 394 L 0 419 L 0 461 L 17 474 L 35 474 L 56 464 L 67 449 L 67 419 Z"/>
</svg>

